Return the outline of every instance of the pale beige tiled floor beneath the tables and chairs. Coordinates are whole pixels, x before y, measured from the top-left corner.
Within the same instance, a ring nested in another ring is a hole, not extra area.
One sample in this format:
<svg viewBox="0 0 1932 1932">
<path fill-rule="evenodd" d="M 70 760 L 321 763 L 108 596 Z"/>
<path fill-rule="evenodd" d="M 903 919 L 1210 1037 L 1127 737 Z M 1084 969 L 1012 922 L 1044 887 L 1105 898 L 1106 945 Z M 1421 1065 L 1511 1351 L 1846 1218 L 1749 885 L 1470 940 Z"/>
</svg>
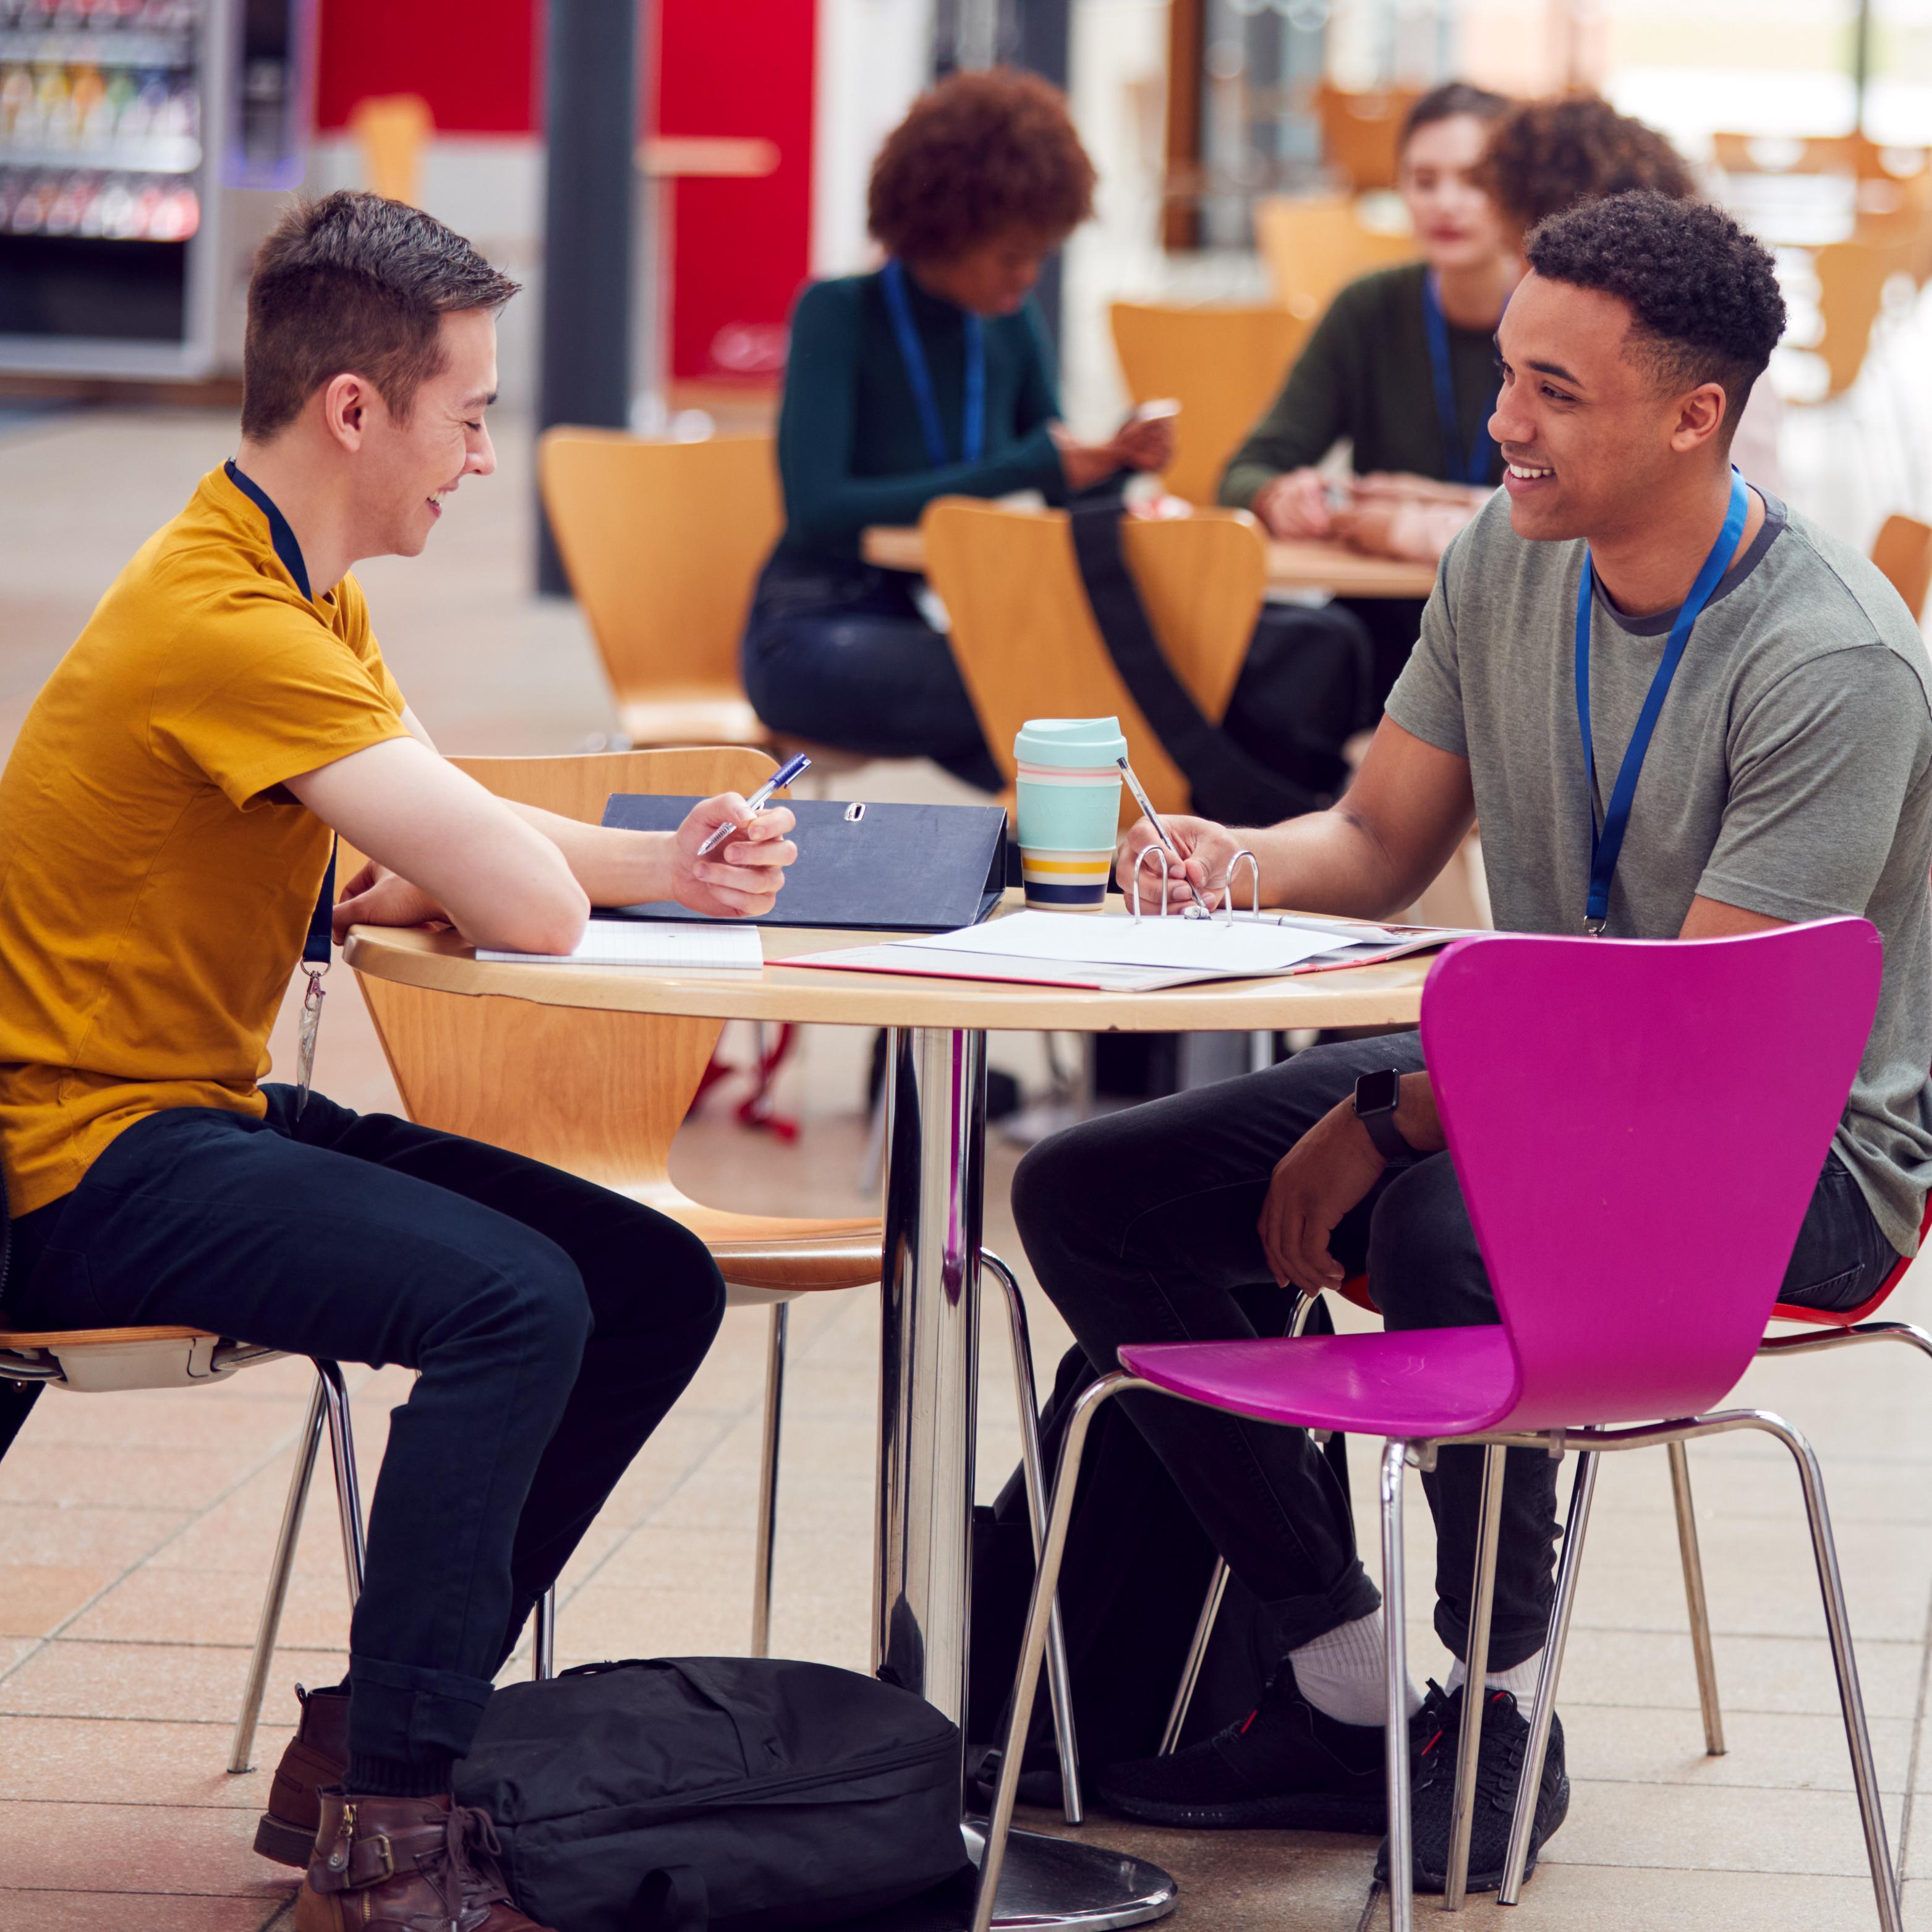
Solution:
<svg viewBox="0 0 1932 1932">
<path fill-rule="evenodd" d="M 526 595 L 527 444 L 514 423 L 502 444 L 502 475 L 466 487 L 433 556 L 377 564 L 363 580 L 390 661 L 446 748 L 564 752 L 609 728 L 609 713 L 576 612 Z M 226 425 L 205 415 L 89 413 L 0 437 L 0 744 L 118 560 L 226 448 Z M 862 782 L 877 796 L 929 781 L 875 769 Z M 350 1105 L 392 1105 L 354 985 L 338 976 L 334 991 L 321 1084 Z M 276 1041 L 278 1057 L 286 1047 Z M 748 1140 L 724 1092 L 688 1126 L 680 1179 L 728 1206 L 856 1208 L 858 1080 L 854 1039 L 811 1036 L 788 1088 L 808 1115 L 802 1142 Z M 1016 1258 L 1010 1167 L 995 1146 L 989 1235 Z M 1932 1277 L 1901 1302 L 1932 1318 Z M 781 1503 L 775 1646 L 854 1667 L 867 1658 L 873 1310 L 869 1294 L 844 1294 L 794 1318 Z M 1065 1331 L 1037 1296 L 1034 1323 L 1051 1364 Z M 1003 1343 L 985 1354 L 981 1493 L 1014 1459 Z M 761 1370 L 761 1318 L 732 1314 L 570 1567 L 566 1660 L 744 1646 Z M 359 1372 L 365 1472 L 404 1385 L 398 1372 Z M 1920 1745 L 1928 1397 L 1932 1366 L 1907 1350 L 1766 1364 L 1743 1391 L 1789 1412 L 1824 1455 L 1907 1909 L 1932 1928 L 1932 1835 L 1917 1816 L 1932 1789 Z M 303 1399 L 296 1364 L 195 1393 L 48 1395 L 0 1464 L 0 1932 L 253 1932 L 284 1917 L 290 1878 L 257 1861 L 249 1837 L 261 1766 L 292 1721 L 290 1685 L 342 1669 L 327 1486 L 303 1534 L 257 1770 L 230 1777 L 222 1766 Z M 1611 1459 L 1563 1696 L 1571 1820 L 1509 1915 L 1515 1932 L 1872 1924 L 1791 1466 L 1745 1437 L 1700 1447 L 1694 1463 L 1729 1754 L 1702 1754 L 1663 1459 Z M 1374 1548 L 1366 1519 L 1364 1536 Z M 1412 1598 L 1426 1609 L 1420 1493 L 1410 1542 Z M 1412 1640 L 1418 1675 L 1441 1675 L 1426 1619 Z M 1378 1918 L 1368 1841 L 1161 1833 L 1107 1818 L 1086 1832 L 1177 1872 L 1173 1922 L 1200 1932 L 1356 1932 Z M 1476 1901 L 1463 1924 L 1503 1918 Z"/>
</svg>

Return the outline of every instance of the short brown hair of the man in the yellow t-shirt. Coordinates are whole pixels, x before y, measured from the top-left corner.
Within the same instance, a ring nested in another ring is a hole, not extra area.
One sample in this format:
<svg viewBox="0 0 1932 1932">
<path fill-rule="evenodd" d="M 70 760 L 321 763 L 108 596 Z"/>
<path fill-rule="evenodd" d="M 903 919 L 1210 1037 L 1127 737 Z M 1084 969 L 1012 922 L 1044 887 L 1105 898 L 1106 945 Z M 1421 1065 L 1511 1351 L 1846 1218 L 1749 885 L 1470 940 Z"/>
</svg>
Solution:
<svg viewBox="0 0 1932 1932">
<path fill-rule="evenodd" d="M 342 189 L 290 209 L 255 253 L 242 348 L 242 435 L 286 429 L 348 369 L 398 417 L 440 369 L 437 325 L 518 290 L 421 209 Z"/>
</svg>

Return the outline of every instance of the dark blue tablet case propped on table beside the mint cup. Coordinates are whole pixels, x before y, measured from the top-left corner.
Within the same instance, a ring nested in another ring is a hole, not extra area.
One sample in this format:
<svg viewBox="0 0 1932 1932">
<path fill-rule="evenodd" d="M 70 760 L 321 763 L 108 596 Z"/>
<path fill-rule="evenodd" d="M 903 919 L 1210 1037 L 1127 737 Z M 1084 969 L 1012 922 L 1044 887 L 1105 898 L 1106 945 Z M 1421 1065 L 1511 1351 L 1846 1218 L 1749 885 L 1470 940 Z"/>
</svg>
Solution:
<svg viewBox="0 0 1932 1932">
<path fill-rule="evenodd" d="M 668 833 L 696 798 L 612 792 L 605 825 Z M 844 925 L 881 933 L 947 933 L 978 925 L 1007 889 L 1001 806 L 871 806 L 786 800 L 798 817 L 798 862 L 777 906 L 750 925 Z M 690 906 L 599 906 L 599 918 L 701 920 Z"/>
</svg>

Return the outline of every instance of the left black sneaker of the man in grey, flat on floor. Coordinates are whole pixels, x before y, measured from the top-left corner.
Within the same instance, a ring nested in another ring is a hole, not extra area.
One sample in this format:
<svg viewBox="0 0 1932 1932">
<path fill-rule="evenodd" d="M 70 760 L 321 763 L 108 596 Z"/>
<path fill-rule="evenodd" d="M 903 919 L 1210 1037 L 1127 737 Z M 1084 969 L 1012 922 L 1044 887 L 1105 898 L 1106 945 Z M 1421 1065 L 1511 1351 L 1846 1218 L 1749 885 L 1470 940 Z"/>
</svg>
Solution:
<svg viewBox="0 0 1932 1932">
<path fill-rule="evenodd" d="M 1101 1803 L 1148 1824 L 1204 1832 L 1379 1832 L 1389 1822 L 1381 1725 L 1337 1723 L 1283 1663 L 1240 1723 L 1099 1776 Z"/>
</svg>

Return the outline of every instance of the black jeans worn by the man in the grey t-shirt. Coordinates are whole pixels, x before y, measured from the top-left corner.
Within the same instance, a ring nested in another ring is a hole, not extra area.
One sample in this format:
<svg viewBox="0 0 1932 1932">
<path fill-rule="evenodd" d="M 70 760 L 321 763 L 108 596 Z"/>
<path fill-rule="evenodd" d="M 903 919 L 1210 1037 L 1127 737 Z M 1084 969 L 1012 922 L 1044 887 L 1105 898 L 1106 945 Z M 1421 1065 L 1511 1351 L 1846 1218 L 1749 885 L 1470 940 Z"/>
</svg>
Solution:
<svg viewBox="0 0 1932 1932">
<path fill-rule="evenodd" d="M 1194 1088 L 1043 1140 L 1020 1163 L 1012 1208 L 1028 1258 L 1095 1370 L 1126 1343 L 1283 1333 L 1293 1291 L 1267 1277 L 1256 1221 L 1275 1161 L 1354 1090 L 1358 1074 L 1422 1066 L 1416 1034 L 1314 1047 L 1267 1072 Z M 1385 1173 L 1343 1217 L 1331 1252 L 1366 1267 L 1391 1329 L 1497 1320 L 1447 1153 Z M 1783 1298 L 1855 1308 L 1897 1262 L 1833 1155 L 1804 1217 Z M 1165 1397 L 1124 1397 L 1215 1548 L 1293 1650 L 1379 1594 L 1354 1546 L 1349 1497 L 1302 1430 Z M 1435 1631 L 1468 1648 L 1480 1449 L 1443 1449 L 1424 1476 L 1435 1517 Z M 1551 1609 L 1557 1466 L 1511 1449 L 1495 1567 L 1490 1669 L 1542 1648 Z"/>
</svg>

